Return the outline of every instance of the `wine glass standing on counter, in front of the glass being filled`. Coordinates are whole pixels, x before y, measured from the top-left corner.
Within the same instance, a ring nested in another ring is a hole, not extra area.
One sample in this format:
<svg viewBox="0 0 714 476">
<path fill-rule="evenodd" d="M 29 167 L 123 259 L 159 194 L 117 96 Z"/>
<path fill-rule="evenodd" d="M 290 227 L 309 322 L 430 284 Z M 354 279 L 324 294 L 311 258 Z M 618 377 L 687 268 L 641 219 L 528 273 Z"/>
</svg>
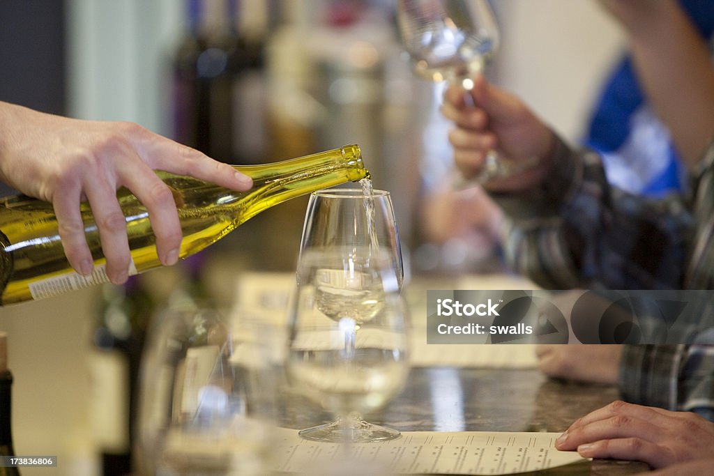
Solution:
<svg viewBox="0 0 714 476">
<path fill-rule="evenodd" d="M 345 248 L 306 250 L 290 316 L 286 368 L 293 388 L 336 414 L 301 437 L 391 440 L 398 430 L 362 419 L 396 395 L 408 373 L 406 309 L 391 257 Z"/>
</svg>

